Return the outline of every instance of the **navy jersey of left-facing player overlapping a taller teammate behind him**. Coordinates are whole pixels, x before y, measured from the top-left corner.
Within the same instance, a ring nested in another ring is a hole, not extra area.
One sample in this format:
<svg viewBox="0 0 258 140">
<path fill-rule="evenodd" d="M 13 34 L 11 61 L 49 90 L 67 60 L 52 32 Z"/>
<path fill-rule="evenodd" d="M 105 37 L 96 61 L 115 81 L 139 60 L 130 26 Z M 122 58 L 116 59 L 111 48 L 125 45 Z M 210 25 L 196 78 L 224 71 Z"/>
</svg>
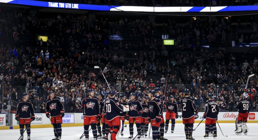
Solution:
<svg viewBox="0 0 258 140">
<path fill-rule="evenodd" d="M 148 101 L 149 105 L 149 117 L 151 120 L 156 119 L 156 116 L 162 115 L 162 105 L 160 103 L 160 99 L 154 98 Z"/>
</svg>

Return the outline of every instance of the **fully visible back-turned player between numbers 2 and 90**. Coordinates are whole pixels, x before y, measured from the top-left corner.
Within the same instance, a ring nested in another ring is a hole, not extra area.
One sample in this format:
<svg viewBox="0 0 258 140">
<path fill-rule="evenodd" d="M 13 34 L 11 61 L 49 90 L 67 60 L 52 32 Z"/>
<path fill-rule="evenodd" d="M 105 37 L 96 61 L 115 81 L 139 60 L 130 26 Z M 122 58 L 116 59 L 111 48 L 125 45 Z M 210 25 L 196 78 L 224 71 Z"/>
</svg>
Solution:
<svg viewBox="0 0 258 140">
<path fill-rule="evenodd" d="M 217 127 L 216 120 L 218 118 L 219 107 L 218 103 L 213 100 L 213 94 L 208 94 L 209 100 L 205 103 L 205 113 L 203 114 L 203 118 L 205 120 L 205 135 L 203 136 L 205 139 L 209 137 L 209 130 L 213 131 L 213 138 L 217 139 Z"/>
</svg>

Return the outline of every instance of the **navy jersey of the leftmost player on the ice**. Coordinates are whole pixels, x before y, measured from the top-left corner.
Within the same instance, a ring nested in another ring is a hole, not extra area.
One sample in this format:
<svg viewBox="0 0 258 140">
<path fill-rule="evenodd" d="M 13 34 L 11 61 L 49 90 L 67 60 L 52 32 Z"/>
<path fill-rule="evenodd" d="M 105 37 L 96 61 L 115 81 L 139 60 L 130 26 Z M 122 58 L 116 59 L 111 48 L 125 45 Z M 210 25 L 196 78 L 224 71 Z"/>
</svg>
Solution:
<svg viewBox="0 0 258 140">
<path fill-rule="evenodd" d="M 18 101 L 16 115 L 19 115 L 21 119 L 29 119 L 34 116 L 34 109 L 31 101 Z M 15 115 L 15 116 L 16 116 Z"/>
</svg>

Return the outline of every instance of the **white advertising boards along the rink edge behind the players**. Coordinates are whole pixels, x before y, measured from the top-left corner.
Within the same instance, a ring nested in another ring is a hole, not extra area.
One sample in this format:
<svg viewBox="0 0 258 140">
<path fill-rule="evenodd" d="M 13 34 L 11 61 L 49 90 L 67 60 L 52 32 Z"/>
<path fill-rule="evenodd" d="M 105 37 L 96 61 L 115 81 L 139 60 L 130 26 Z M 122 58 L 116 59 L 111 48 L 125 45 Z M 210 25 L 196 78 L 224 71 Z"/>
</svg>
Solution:
<svg viewBox="0 0 258 140">
<path fill-rule="evenodd" d="M 203 119 L 203 113 L 199 112 L 199 117 L 195 119 L 195 123 L 199 123 Z M 1 129 L 19 129 L 19 123 L 15 120 L 15 114 L 9 113 L 8 120 L 9 125 L 6 126 L 5 116 L 6 114 L 0 114 L 0 130 Z M 163 113 L 164 119 L 166 112 Z M 219 112 L 218 122 L 219 123 L 235 123 L 235 120 L 238 116 L 238 112 Z M 31 123 L 32 128 L 44 128 L 52 127 L 50 119 L 46 117 L 45 113 L 35 113 L 35 121 Z M 204 123 L 203 121 L 202 123 Z M 178 119 L 176 123 L 182 123 L 182 112 L 178 112 Z M 258 112 L 250 112 L 248 116 L 248 123 L 258 123 Z M 128 121 L 125 121 L 125 124 L 128 124 Z M 65 113 L 63 117 L 63 127 L 71 126 L 82 126 L 83 125 L 83 116 L 82 113 Z"/>
</svg>

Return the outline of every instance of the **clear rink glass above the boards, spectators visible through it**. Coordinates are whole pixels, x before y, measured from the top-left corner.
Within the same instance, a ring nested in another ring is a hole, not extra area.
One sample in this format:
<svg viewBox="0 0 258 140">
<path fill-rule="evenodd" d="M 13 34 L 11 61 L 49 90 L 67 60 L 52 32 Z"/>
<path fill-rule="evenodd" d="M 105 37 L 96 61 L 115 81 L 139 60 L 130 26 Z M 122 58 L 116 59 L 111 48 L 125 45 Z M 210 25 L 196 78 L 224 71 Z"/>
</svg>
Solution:
<svg viewBox="0 0 258 140">
<path fill-rule="evenodd" d="M 127 100 L 130 99 L 130 93 L 134 92 L 136 93 L 136 96 L 138 99 L 141 99 L 142 96 L 147 96 L 148 91 L 150 88 L 153 89 L 153 87 L 149 87 L 146 83 L 141 83 L 140 81 L 133 81 L 131 83 L 126 83 L 126 86 L 122 84 L 120 87 L 120 84 L 118 83 L 111 83 L 110 88 L 112 91 L 117 91 L 121 94 L 118 94 L 118 96 L 125 94 L 127 96 Z M 1 86 L 0 91 L 0 99 L 2 102 L 2 112 L 4 113 L 10 113 L 16 111 L 17 102 L 22 99 L 22 94 L 27 92 L 29 93 L 29 99 L 32 101 L 34 110 L 36 113 L 44 113 L 45 112 L 45 103 L 46 100 L 49 98 L 49 91 L 55 91 L 56 96 L 58 96 L 61 99 L 61 102 L 65 106 L 66 112 L 82 112 L 81 109 L 81 100 L 82 97 L 87 95 L 87 90 L 90 88 L 89 85 L 80 85 L 76 87 L 67 87 L 67 86 L 57 86 L 57 87 L 49 87 L 49 86 L 12 86 L 12 85 L 3 85 Z M 132 88 L 130 87 L 132 86 Z M 205 111 L 205 101 L 208 99 L 207 95 L 209 93 L 209 89 L 211 87 L 207 87 L 207 84 L 200 84 L 198 85 L 201 90 L 199 90 L 199 87 L 194 87 L 193 85 L 183 85 L 183 89 L 189 89 L 191 91 L 191 96 L 194 98 L 195 105 L 199 109 L 199 111 Z M 95 96 L 97 93 L 100 93 L 102 97 L 106 94 L 109 89 L 107 89 L 107 85 L 105 82 L 98 82 L 95 86 L 93 86 L 95 90 Z M 130 88 L 129 88 L 130 87 Z M 162 89 L 162 94 L 165 90 L 165 84 L 156 85 L 156 87 L 160 87 Z M 168 89 L 166 89 L 165 96 L 168 97 L 170 95 L 173 95 L 175 98 L 175 101 L 178 102 L 179 111 L 181 111 L 181 103 L 180 100 L 182 96 L 182 85 L 175 84 L 175 85 L 167 85 Z M 237 90 L 237 88 L 240 87 L 240 90 Z M 252 103 L 251 111 L 258 111 L 257 102 L 258 102 L 258 96 L 257 93 L 255 93 L 255 90 L 250 90 L 251 85 L 248 85 L 248 90 L 246 92 L 250 93 L 248 101 Z M 197 88 L 195 90 L 195 88 Z M 235 108 L 236 103 L 241 98 L 242 93 L 245 91 L 245 85 L 229 85 L 229 84 L 223 84 L 223 85 L 212 85 L 212 88 L 214 89 L 213 94 L 214 100 L 217 100 L 218 97 L 223 97 L 224 103 L 226 103 L 226 106 L 224 109 L 220 109 L 220 111 L 237 111 Z M 35 93 L 33 93 L 33 89 L 35 89 Z M 216 92 L 217 91 L 217 92 Z M 221 94 L 222 93 L 222 94 Z M 164 94 L 163 94 L 164 95 Z M 231 98 L 232 97 L 232 98 Z M 164 101 L 165 102 L 165 101 Z M 1 108 L 1 107 L 0 107 Z M 164 110 L 165 111 L 165 110 Z"/>
</svg>

